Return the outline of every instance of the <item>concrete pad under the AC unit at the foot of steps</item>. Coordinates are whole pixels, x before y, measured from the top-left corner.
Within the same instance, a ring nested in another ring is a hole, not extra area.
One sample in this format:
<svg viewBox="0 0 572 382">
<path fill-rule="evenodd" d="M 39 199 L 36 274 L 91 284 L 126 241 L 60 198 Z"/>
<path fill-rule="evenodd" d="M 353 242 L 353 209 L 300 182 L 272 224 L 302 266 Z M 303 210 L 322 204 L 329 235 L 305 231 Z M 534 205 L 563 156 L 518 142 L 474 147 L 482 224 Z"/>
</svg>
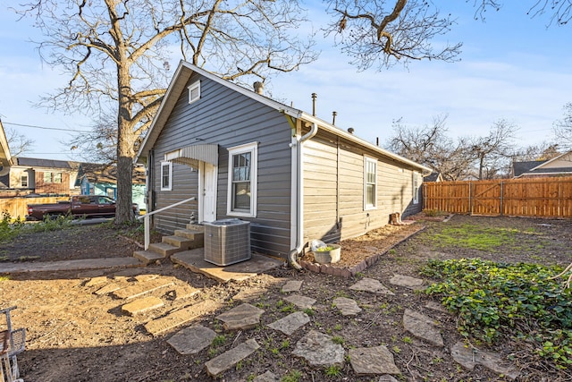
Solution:
<svg viewBox="0 0 572 382">
<path fill-rule="evenodd" d="M 195 273 L 203 274 L 221 283 L 227 283 L 231 280 L 247 280 L 250 277 L 257 276 L 257 274 L 264 273 L 275 267 L 280 267 L 283 264 L 283 261 L 278 259 L 253 253 L 252 257 L 246 261 L 226 267 L 218 267 L 205 261 L 203 248 L 183 250 L 182 252 L 173 254 L 171 260 L 175 264 L 187 267 Z"/>
</svg>

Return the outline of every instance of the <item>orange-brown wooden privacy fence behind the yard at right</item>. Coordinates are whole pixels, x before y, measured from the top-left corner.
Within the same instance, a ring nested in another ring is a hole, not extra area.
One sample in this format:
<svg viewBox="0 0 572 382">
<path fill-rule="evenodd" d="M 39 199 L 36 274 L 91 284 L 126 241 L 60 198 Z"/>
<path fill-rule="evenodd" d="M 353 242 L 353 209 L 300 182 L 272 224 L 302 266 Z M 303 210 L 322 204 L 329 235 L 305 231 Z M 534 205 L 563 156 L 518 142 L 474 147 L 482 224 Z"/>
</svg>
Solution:
<svg viewBox="0 0 572 382">
<path fill-rule="evenodd" d="M 484 216 L 572 217 L 572 176 L 424 183 L 423 208 Z"/>
</svg>

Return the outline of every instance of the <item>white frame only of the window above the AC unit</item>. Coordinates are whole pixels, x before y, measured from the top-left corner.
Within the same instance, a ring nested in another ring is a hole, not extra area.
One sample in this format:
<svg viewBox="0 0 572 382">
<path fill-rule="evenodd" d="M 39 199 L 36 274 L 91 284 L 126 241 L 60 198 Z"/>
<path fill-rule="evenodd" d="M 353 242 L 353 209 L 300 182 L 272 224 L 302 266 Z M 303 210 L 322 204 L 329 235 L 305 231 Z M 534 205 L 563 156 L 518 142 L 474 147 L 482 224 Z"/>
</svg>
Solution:
<svg viewBox="0 0 572 382">
<path fill-rule="evenodd" d="M 257 217 L 257 184 L 258 184 L 258 142 L 229 148 L 229 176 L 226 199 L 226 215 L 241 217 Z M 250 152 L 250 208 L 232 209 L 232 158 L 236 155 Z"/>
</svg>

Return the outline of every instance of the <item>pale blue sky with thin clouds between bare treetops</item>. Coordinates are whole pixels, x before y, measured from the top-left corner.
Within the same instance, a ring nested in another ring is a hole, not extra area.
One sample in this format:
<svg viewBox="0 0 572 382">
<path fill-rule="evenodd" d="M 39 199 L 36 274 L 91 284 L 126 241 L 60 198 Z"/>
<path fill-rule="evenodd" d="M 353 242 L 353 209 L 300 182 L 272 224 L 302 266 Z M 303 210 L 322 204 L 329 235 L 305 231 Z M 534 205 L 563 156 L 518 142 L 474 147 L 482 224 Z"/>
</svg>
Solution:
<svg viewBox="0 0 572 382">
<path fill-rule="evenodd" d="M 61 160 L 83 160 L 63 141 L 73 132 L 88 131 L 90 119 L 80 112 L 63 115 L 34 106 L 41 95 L 63 86 L 65 74 L 42 64 L 36 46 L 38 30 L 29 21 L 17 21 L 0 0 L 0 118 L 4 129 L 15 129 L 35 144 L 24 155 Z M 431 124 L 448 115 L 452 138 L 485 136 L 500 119 L 518 127 L 519 147 L 553 140 L 552 125 L 572 102 L 572 25 L 547 28 L 547 15 L 531 19 L 526 5 L 533 1 L 506 0 L 499 12 L 487 12 L 475 21 L 475 9 L 462 1 L 435 0 L 457 18 L 444 39 L 463 43 L 460 61 L 410 62 L 375 72 L 357 72 L 350 58 L 332 47 L 332 38 L 318 33 L 320 58 L 297 72 L 281 74 L 266 85 L 273 98 L 308 113 L 316 93 L 316 115 L 380 144 L 392 133 L 392 122 L 409 127 Z M 321 2 L 309 5 L 317 29 L 326 16 Z M 173 58 L 172 68 L 178 64 Z M 25 125 L 25 126 L 24 126 Z M 41 126 L 47 129 L 32 128 Z M 55 130 L 62 129 L 62 130 Z"/>
</svg>

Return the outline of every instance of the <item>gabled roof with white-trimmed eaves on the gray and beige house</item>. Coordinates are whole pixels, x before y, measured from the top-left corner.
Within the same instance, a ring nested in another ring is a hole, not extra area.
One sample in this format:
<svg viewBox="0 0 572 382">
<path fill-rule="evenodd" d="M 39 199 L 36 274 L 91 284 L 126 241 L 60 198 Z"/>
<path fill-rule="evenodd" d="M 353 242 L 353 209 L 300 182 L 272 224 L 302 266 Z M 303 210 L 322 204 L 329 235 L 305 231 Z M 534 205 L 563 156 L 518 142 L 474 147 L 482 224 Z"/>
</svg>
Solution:
<svg viewBox="0 0 572 382">
<path fill-rule="evenodd" d="M 286 106 L 280 102 L 274 101 L 272 98 L 265 97 L 264 95 L 258 94 L 253 90 L 243 88 L 240 85 L 237 85 L 236 83 L 233 83 L 231 81 L 223 80 L 221 77 L 211 72 L 206 72 L 206 70 L 201 69 L 198 66 L 189 64 L 182 60 L 179 63 L 179 66 L 177 67 L 177 70 L 175 71 L 172 77 L 171 83 L 169 84 L 169 88 L 167 89 L 164 95 L 163 102 L 161 103 L 161 106 L 159 106 L 155 118 L 153 119 L 153 122 L 149 127 L 147 136 L 145 137 L 145 140 L 143 140 L 139 152 L 135 157 L 136 162 L 139 162 L 140 158 L 147 157 L 148 150 L 155 145 L 155 142 L 159 137 L 159 134 L 164 128 L 164 124 L 166 123 L 167 118 L 169 117 L 169 115 L 171 115 L 172 109 L 176 105 L 177 100 L 181 96 L 181 93 L 184 90 L 185 85 L 187 84 L 187 81 L 189 81 L 189 78 L 193 72 L 200 74 L 201 76 L 205 77 L 210 81 L 217 82 L 227 88 L 237 91 L 240 94 L 247 96 L 248 98 L 255 99 L 266 106 L 270 106 L 273 109 L 285 115 L 290 115 L 293 118 L 300 119 L 308 123 L 316 123 L 319 129 L 331 132 L 341 138 L 356 143 L 357 145 L 362 146 L 366 149 L 371 149 L 381 154 L 384 157 L 390 157 L 391 159 L 394 159 L 403 164 L 407 164 L 408 166 L 416 167 L 419 170 L 426 173 L 431 172 L 431 169 L 429 167 L 422 166 L 412 160 L 409 160 L 408 158 L 401 157 L 397 154 L 392 153 L 391 151 L 387 151 L 378 146 L 375 146 L 374 144 L 369 143 L 366 140 L 357 138 L 355 135 L 350 134 L 349 132 L 345 132 L 344 130 L 341 130 L 339 127 L 336 127 L 331 123 L 327 123 L 319 118 L 316 118 L 314 115 L 309 115 L 303 112 L 302 110 Z"/>
</svg>

